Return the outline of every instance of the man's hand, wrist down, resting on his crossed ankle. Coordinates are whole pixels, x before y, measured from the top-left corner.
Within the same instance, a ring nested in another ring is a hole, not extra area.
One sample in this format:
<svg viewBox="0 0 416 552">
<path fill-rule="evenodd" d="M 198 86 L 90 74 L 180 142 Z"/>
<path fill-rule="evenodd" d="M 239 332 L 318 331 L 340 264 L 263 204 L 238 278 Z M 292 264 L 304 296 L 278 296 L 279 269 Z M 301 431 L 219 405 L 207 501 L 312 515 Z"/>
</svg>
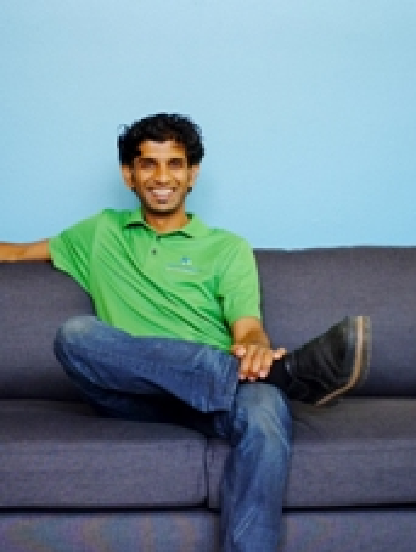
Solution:
<svg viewBox="0 0 416 552">
<path fill-rule="evenodd" d="M 286 349 L 271 349 L 256 343 L 235 344 L 233 354 L 240 359 L 239 380 L 267 378 L 273 360 L 284 357 L 286 353 Z"/>
</svg>

